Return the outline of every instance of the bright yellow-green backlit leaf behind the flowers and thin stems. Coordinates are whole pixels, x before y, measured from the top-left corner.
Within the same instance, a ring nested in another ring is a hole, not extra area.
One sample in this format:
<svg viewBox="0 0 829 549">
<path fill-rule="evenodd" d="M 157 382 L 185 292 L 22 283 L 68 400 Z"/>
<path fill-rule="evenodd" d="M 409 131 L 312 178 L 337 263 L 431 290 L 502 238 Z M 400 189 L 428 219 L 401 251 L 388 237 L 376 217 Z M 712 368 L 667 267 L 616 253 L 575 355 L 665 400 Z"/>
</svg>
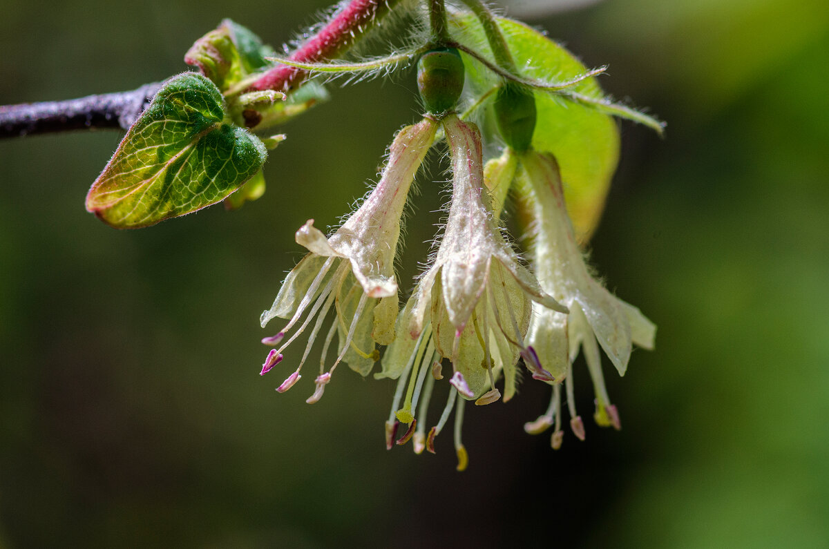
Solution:
<svg viewBox="0 0 829 549">
<path fill-rule="evenodd" d="M 471 14 L 453 16 L 459 41 L 492 57 L 478 20 Z M 497 17 L 498 26 L 513 56 L 521 66 L 521 75 L 545 81 L 563 81 L 587 72 L 570 51 L 523 23 Z M 525 64 L 520 60 L 531 60 Z M 481 63 L 463 54 L 470 82 L 478 93 L 486 93 L 500 84 Z M 573 92 L 596 100 L 606 100 L 596 79 L 588 78 L 570 88 Z M 589 240 L 599 223 L 610 180 L 618 163 L 618 128 L 611 116 L 591 105 L 574 103 L 545 91 L 536 91 L 536 131 L 532 146 L 555 154 L 565 182 L 565 199 L 576 235 Z M 494 96 L 494 94 L 493 94 Z M 488 105 L 491 110 L 492 102 Z"/>
</svg>

